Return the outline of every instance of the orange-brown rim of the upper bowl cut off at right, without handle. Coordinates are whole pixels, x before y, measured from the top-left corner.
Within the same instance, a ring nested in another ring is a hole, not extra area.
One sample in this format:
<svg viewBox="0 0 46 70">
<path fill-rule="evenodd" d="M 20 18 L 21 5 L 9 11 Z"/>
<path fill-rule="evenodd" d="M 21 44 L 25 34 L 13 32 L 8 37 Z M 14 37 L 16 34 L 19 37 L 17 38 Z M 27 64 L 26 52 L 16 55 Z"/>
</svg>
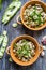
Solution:
<svg viewBox="0 0 46 70">
<path fill-rule="evenodd" d="M 40 4 L 42 3 L 44 6 L 46 6 L 45 3 L 42 2 L 42 1 L 28 1 L 28 2 L 26 2 L 26 3 L 21 6 L 21 10 L 20 10 L 20 18 L 21 18 L 22 25 L 24 25 L 26 28 L 30 29 L 30 30 L 34 30 L 34 31 L 42 30 L 42 29 L 44 29 L 44 28 L 46 27 L 46 23 L 45 23 L 43 26 L 39 27 L 39 28 L 30 28 L 30 27 L 28 27 L 28 26 L 25 24 L 25 22 L 24 22 L 22 11 L 24 11 L 25 6 L 26 6 L 27 4 L 29 4 L 30 2 L 39 2 Z"/>
</svg>

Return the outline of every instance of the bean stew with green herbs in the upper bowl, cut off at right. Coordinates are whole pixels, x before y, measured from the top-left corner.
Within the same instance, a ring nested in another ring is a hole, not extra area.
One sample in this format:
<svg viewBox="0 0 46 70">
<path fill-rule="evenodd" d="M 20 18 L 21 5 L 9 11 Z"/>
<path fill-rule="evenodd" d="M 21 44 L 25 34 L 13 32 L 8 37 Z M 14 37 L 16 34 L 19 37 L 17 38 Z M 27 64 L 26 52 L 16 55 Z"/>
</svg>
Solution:
<svg viewBox="0 0 46 70">
<path fill-rule="evenodd" d="M 46 22 L 46 13 L 40 4 L 29 5 L 24 12 L 24 22 L 28 27 L 41 27 Z"/>
</svg>

